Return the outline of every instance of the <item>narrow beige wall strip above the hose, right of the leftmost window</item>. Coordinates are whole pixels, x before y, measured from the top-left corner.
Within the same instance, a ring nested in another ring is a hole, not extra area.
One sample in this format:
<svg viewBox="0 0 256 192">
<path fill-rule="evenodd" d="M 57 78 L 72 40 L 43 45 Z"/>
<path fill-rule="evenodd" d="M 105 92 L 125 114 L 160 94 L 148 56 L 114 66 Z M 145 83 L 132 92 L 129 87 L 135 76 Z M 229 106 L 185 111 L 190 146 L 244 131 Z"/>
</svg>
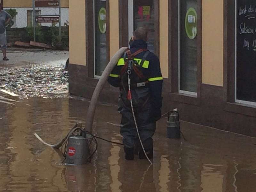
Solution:
<svg viewBox="0 0 256 192">
<path fill-rule="evenodd" d="M 119 49 L 119 12 L 118 0 L 109 1 L 109 56 L 111 57 Z"/>
</svg>

